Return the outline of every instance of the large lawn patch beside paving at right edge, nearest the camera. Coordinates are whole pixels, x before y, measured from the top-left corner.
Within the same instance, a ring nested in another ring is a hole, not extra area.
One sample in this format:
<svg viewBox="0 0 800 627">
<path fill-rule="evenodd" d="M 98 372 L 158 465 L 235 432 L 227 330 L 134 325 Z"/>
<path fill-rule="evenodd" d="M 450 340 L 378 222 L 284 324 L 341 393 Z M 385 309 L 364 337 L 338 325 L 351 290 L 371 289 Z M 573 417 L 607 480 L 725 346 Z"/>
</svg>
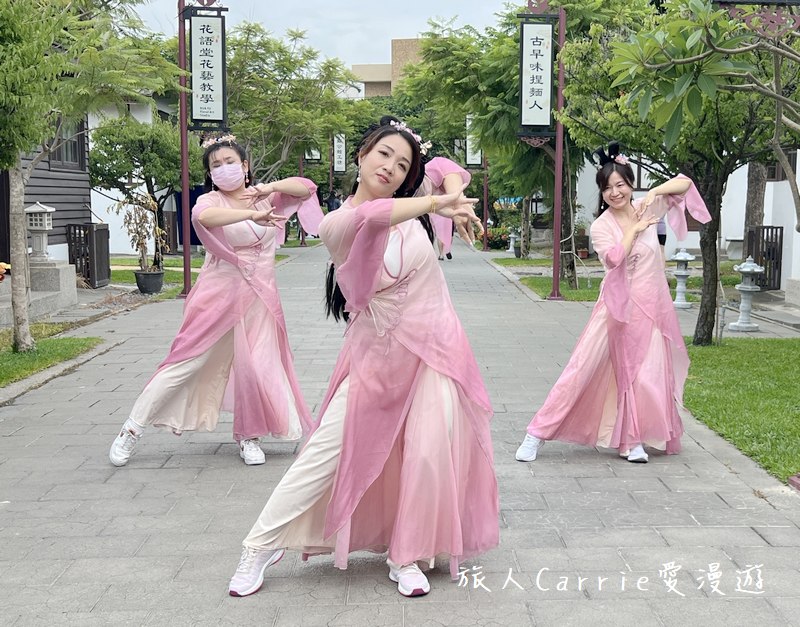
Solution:
<svg viewBox="0 0 800 627">
<path fill-rule="evenodd" d="M 794 338 L 689 346 L 686 406 L 781 481 L 800 473 L 798 353 Z"/>
</svg>

